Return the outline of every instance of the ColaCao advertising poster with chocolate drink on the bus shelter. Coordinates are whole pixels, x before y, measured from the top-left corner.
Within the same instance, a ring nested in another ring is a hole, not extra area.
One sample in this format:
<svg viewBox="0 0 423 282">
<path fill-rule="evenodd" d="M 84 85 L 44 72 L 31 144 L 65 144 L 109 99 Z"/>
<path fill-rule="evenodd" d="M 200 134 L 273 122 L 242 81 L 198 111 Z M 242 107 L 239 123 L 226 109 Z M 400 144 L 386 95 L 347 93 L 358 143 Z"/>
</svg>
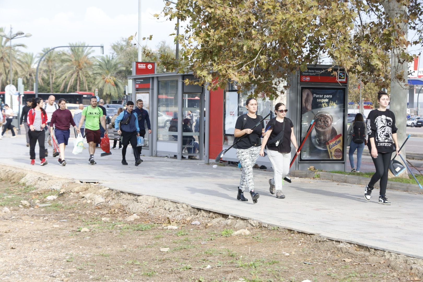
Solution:
<svg viewBox="0 0 423 282">
<path fill-rule="evenodd" d="M 301 140 L 315 124 L 302 147 L 299 162 L 343 162 L 346 88 L 301 87 Z"/>
</svg>

